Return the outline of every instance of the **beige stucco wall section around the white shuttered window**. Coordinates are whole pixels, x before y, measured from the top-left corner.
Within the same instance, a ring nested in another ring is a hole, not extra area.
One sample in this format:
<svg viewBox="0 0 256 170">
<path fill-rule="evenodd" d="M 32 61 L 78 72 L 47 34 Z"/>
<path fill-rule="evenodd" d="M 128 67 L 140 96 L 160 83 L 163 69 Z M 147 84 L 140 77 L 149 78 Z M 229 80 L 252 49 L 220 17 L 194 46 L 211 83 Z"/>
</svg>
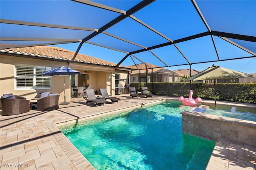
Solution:
<svg viewBox="0 0 256 170">
<path fill-rule="evenodd" d="M 64 78 L 63 76 L 52 76 L 52 89 L 26 89 L 26 90 L 15 90 L 14 88 L 14 65 L 37 65 L 37 66 L 48 66 L 52 69 L 67 66 L 68 63 L 49 61 L 42 59 L 31 59 L 25 57 L 16 57 L 10 55 L 0 55 L 0 95 L 4 93 L 12 93 L 14 95 L 20 95 L 26 97 L 27 100 L 32 99 L 36 94 L 50 91 L 50 93 L 58 93 L 60 95 L 59 101 L 64 101 Z M 66 84 L 66 101 L 69 96 L 70 78 L 65 76 Z"/>
</svg>

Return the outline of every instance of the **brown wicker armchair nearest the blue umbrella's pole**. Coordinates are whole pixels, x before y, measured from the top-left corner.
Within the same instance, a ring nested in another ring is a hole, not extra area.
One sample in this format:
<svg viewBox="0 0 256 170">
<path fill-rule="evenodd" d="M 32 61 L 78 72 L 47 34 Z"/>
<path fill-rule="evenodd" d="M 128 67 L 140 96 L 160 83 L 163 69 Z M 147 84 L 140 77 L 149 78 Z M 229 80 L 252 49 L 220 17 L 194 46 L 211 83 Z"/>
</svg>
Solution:
<svg viewBox="0 0 256 170">
<path fill-rule="evenodd" d="M 43 97 L 37 100 L 37 110 L 38 111 L 52 111 L 59 109 L 59 98 L 60 95 L 53 95 L 48 97 Z"/>
</svg>

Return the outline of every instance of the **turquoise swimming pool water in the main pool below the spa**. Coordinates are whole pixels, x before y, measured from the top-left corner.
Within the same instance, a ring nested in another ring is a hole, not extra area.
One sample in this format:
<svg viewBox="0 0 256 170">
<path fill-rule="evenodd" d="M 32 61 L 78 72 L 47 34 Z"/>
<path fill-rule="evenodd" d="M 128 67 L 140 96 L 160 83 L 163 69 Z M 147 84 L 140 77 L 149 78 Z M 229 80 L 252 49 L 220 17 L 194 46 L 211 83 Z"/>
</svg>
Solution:
<svg viewBox="0 0 256 170">
<path fill-rule="evenodd" d="M 204 170 L 215 142 L 182 134 L 190 108 L 161 103 L 60 130 L 98 170 Z"/>
</svg>

